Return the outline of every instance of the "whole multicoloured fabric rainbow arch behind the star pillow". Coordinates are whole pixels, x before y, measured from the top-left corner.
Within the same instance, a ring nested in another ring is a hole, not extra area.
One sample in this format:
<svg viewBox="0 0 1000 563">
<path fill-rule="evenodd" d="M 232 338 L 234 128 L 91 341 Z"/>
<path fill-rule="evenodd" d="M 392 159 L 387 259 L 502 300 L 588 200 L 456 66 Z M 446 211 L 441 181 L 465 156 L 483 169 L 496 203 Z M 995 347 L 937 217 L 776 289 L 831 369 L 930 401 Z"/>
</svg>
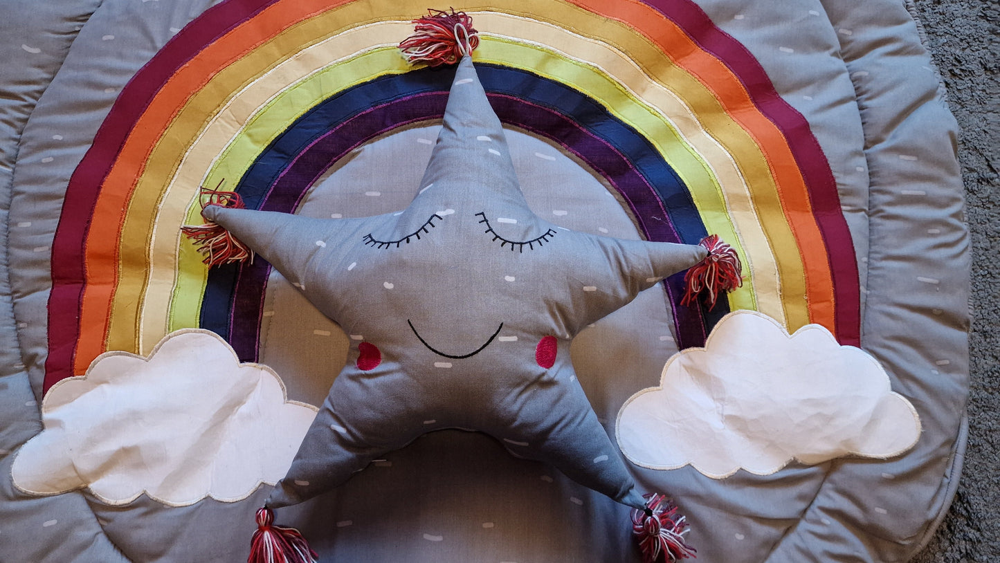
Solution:
<svg viewBox="0 0 1000 563">
<path fill-rule="evenodd" d="M 681 347 L 727 310 L 860 343 L 858 271 L 829 165 L 805 118 L 742 45 L 688 0 L 456 5 L 501 120 L 602 174 L 650 240 L 717 233 L 744 287 L 714 311 L 679 305 Z M 396 49 L 413 0 L 228 0 L 181 30 L 126 86 L 74 172 L 52 247 L 46 389 L 107 350 L 147 353 L 203 326 L 256 359 L 268 267 L 208 271 L 184 224 L 199 187 L 294 212 L 338 158 L 439 119 L 451 72 Z M 537 14 L 544 14 L 537 15 Z"/>
</svg>

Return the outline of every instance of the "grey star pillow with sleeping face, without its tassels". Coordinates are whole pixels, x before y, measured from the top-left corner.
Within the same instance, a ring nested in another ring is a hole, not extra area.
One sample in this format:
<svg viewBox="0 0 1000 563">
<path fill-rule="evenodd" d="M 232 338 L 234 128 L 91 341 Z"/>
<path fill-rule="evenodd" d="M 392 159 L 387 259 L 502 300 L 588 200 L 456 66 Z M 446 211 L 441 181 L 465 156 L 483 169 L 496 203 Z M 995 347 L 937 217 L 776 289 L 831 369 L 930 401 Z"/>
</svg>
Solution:
<svg viewBox="0 0 1000 563">
<path fill-rule="evenodd" d="M 570 341 L 705 248 L 583 234 L 535 216 L 468 56 L 415 191 L 401 214 L 362 219 L 204 211 L 363 337 L 268 506 L 306 500 L 425 432 L 457 427 L 641 509 L 576 381 Z"/>
</svg>

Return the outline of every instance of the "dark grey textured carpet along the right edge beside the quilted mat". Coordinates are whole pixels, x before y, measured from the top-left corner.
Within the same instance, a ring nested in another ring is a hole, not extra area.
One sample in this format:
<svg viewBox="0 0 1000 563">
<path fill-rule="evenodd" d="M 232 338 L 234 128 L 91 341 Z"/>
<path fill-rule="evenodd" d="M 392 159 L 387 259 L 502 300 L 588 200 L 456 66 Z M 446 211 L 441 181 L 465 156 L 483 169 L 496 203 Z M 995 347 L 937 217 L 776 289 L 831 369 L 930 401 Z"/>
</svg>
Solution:
<svg viewBox="0 0 1000 563">
<path fill-rule="evenodd" d="M 1000 3 L 916 0 L 962 128 L 972 230 L 969 442 L 951 510 L 915 563 L 1000 561 Z"/>
</svg>

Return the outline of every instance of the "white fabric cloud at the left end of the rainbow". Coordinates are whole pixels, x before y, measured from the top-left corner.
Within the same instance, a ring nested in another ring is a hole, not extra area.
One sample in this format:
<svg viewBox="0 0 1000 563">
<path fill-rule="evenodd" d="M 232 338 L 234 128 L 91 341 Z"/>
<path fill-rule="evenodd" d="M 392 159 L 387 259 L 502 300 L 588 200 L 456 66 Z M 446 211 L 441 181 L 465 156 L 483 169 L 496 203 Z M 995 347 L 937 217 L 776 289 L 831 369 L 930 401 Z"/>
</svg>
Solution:
<svg viewBox="0 0 1000 563">
<path fill-rule="evenodd" d="M 214 333 L 181 330 L 148 359 L 108 352 L 54 385 L 11 473 L 27 493 L 86 487 L 112 505 L 143 493 L 171 506 L 233 502 L 284 477 L 315 416 L 286 401 L 270 368 L 240 364 Z"/>
</svg>

